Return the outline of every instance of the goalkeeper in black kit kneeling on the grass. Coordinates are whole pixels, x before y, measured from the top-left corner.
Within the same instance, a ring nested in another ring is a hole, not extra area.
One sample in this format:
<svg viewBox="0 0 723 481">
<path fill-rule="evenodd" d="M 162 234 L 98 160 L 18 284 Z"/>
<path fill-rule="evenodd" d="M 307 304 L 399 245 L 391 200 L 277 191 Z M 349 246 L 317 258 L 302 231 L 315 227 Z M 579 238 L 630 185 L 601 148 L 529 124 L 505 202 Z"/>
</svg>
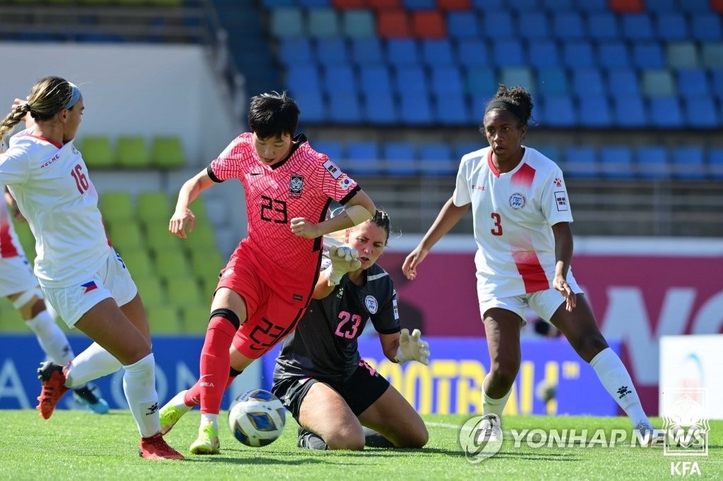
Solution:
<svg viewBox="0 0 723 481">
<path fill-rule="evenodd" d="M 340 233 L 343 245 L 328 249 L 309 308 L 283 341 L 272 391 L 299 423 L 301 448 L 421 448 L 429 439 L 422 417 L 356 341 L 370 319 L 390 361 L 429 364 L 429 345 L 419 329 L 400 329 L 393 281 L 375 264 L 389 233 L 380 210 Z"/>
</svg>

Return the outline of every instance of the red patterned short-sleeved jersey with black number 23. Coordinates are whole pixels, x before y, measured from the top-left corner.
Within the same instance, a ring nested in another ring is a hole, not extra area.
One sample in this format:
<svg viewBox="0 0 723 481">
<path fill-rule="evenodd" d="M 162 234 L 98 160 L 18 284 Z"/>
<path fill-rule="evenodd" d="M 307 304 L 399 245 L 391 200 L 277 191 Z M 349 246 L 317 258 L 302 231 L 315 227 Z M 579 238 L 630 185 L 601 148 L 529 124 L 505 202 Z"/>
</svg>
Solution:
<svg viewBox="0 0 723 481">
<path fill-rule="evenodd" d="M 248 237 L 231 259 L 249 249 L 258 276 L 289 303 L 309 300 L 316 283 L 322 238 L 307 239 L 291 232 L 294 217 L 319 223 L 332 200 L 346 204 L 359 186 L 329 157 L 316 152 L 303 134 L 296 136 L 291 155 L 275 165 L 263 164 L 253 147 L 252 134 L 239 135 L 208 166 L 210 178 L 238 178 L 246 196 Z"/>
</svg>

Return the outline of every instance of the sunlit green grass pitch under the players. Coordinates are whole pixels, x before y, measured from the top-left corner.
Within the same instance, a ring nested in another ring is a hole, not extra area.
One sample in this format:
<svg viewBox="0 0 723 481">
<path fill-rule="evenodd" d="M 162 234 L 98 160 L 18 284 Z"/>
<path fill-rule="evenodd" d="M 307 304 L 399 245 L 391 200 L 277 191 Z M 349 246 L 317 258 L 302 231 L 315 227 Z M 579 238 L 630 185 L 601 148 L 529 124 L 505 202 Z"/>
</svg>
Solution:
<svg viewBox="0 0 723 481">
<path fill-rule="evenodd" d="M 723 421 L 711 421 L 708 456 L 664 456 L 662 448 L 629 443 L 613 447 L 515 447 L 511 430 L 625 429 L 625 417 L 505 417 L 505 443 L 499 453 L 471 464 L 458 441 L 466 416 L 425 415 L 429 443 L 424 449 L 307 451 L 296 448 L 296 423 L 287 418 L 278 441 L 247 448 L 221 423 L 221 454 L 187 455 L 185 461 L 152 462 L 137 454 L 138 434 L 127 411 L 108 415 L 60 410 L 44 421 L 31 410 L 0 410 L 0 480 L 660 480 L 671 463 L 696 462 L 701 476 L 723 478 Z M 653 420 L 661 426 L 659 418 Z M 171 446 L 187 454 L 199 414 L 190 412 L 168 433 Z M 629 439 L 629 438 L 627 438 Z M 690 467 L 688 464 L 690 474 Z M 688 476 L 690 477 L 690 475 Z"/>
</svg>

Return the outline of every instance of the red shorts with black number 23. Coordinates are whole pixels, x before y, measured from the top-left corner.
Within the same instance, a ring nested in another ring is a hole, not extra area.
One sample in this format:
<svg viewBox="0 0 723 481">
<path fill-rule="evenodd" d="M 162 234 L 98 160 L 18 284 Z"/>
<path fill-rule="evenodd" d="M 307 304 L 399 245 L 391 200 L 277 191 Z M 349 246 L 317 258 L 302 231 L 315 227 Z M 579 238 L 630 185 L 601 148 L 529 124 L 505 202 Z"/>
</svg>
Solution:
<svg viewBox="0 0 723 481">
<path fill-rule="evenodd" d="M 293 306 L 269 287 L 244 254 L 234 256 L 221 271 L 216 289 L 228 287 L 246 302 L 247 319 L 234 336 L 234 346 L 249 359 L 258 359 L 296 329 L 307 306 Z"/>
</svg>

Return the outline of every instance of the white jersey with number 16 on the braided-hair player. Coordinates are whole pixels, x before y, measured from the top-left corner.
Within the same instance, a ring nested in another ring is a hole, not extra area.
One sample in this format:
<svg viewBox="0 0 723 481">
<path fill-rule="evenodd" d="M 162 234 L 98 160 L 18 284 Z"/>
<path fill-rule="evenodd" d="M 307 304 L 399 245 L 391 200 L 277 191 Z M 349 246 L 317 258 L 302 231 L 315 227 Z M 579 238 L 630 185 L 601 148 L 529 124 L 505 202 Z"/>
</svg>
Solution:
<svg viewBox="0 0 723 481">
<path fill-rule="evenodd" d="M 73 145 L 30 135 L 12 136 L 0 154 L 7 184 L 35 235 L 35 275 L 47 287 L 87 280 L 105 264 L 111 247 L 98 210 L 98 193 Z"/>
</svg>

